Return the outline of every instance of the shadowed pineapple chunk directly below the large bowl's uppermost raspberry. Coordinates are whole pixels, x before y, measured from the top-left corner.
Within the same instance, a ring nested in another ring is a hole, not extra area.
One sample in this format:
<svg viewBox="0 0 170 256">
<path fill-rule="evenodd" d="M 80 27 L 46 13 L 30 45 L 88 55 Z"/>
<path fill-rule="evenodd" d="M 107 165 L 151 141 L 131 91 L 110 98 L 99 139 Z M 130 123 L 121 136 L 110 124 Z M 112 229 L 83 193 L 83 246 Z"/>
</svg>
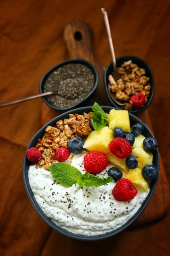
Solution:
<svg viewBox="0 0 170 256">
<path fill-rule="evenodd" d="M 117 156 L 113 155 L 111 152 L 106 154 L 108 162 L 113 164 L 113 166 L 119 168 L 119 170 L 128 173 L 129 168 L 126 166 L 126 158 L 120 159 Z"/>
</svg>

